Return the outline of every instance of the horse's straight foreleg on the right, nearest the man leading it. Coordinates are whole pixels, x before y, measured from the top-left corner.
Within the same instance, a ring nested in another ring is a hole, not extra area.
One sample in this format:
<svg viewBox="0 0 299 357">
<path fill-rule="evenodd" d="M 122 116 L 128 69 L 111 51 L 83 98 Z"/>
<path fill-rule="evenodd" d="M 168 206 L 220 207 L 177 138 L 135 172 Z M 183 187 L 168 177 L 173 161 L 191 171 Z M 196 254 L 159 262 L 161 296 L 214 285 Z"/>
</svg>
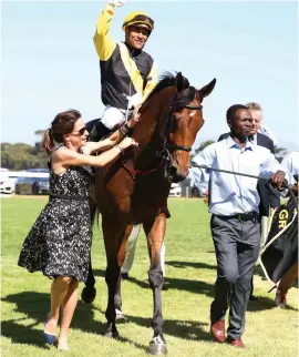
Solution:
<svg viewBox="0 0 299 357">
<path fill-rule="evenodd" d="M 148 353 L 152 355 L 162 355 L 167 353 L 166 341 L 163 336 L 163 317 L 162 317 L 162 296 L 163 272 L 161 267 L 161 249 L 166 230 L 166 216 L 159 214 L 154 222 L 144 224 L 144 231 L 147 236 L 148 253 L 151 267 L 148 271 L 150 285 L 154 296 L 154 315 L 152 327 L 154 337 L 150 344 Z"/>
</svg>

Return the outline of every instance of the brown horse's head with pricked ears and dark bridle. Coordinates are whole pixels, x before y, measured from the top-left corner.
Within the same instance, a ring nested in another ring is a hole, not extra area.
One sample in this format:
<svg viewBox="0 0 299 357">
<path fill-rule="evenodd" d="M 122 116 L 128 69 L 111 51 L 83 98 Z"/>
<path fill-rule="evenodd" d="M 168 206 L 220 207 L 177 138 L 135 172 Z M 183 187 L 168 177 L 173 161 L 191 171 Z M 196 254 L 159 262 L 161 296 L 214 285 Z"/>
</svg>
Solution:
<svg viewBox="0 0 299 357">
<path fill-rule="evenodd" d="M 175 96 L 162 130 L 165 136 L 163 155 L 168 155 L 167 175 L 172 182 L 183 181 L 188 175 L 192 145 L 204 124 L 202 103 L 212 93 L 215 84 L 216 79 L 196 90 L 189 86 L 181 72 L 176 75 Z"/>
</svg>

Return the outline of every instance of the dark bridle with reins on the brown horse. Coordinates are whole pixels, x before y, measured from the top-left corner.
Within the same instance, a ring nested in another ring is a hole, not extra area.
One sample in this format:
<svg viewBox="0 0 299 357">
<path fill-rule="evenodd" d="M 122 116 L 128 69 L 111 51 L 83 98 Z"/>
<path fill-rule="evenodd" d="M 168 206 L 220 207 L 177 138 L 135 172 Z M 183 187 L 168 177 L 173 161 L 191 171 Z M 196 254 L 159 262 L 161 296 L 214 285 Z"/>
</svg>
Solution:
<svg viewBox="0 0 299 357">
<path fill-rule="evenodd" d="M 189 110 L 196 110 L 196 111 L 200 111 L 203 110 L 203 105 L 189 105 L 189 104 L 185 104 L 185 105 L 179 105 L 179 110 L 183 109 L 189 109 Z M 130 167 L 127 167 L 125 165 L 125 161 L 122 161 L 122 165 L 124 169 L 126 169 L 127 171 L 132 172 L 132 173 L 136 173 L 136 174 L 141 174 L 141 175 L 147 175 L 150 173 L 156 172 L 158 169 L 161 169 L 161 166 L 163 166 L 163 164 L 165 164 L 165 176 L 168 176 L 169 173 L 169 167 L 172 165 L 172 153 L 174 151 L 186 151 L 186 152 L 190 152 L 192 147 L 190 146 L 183 146 L 183 145 L 176 145 L 173 144 L 171 142 L 171 128 L 173 125 L 173 121 L 174 121 L 174 112 L 177 111 L 177 106 L 175 105 L 169 105 L 166 115 L 164 116 L 164 122 L 165 122 L 165 136 L 164 136 L 164 143 L 163 143 L 163 147 L 158 151 L 156 151 L 156 156 L 161 157 L 161 162 L 159 164 L 151 170 L 146 170 L 146 171 L 140 171 L 140 170 L 132 170 Z M 151 147 L 148 146 L 143 146 L 140 145 L 143 150 L 150 150 Z"/>
</svg>

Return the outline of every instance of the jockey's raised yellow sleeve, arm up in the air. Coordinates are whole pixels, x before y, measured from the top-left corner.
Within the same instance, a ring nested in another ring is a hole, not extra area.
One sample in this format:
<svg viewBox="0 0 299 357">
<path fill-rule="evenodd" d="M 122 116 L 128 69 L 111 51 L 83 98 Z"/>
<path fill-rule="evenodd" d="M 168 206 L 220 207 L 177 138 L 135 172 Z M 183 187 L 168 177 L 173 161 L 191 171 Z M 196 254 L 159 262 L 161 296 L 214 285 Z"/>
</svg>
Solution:
<svg viewBox="0 0 299 357">
<path fill-rule="evenodd" d="M 116 47 L 116 42 L 110 35 L 110 26 L 114 11 L 115 8 L 107 3 L 96 22 L 93 42 L 101 61 L 107 61 Z"/>
</svg>

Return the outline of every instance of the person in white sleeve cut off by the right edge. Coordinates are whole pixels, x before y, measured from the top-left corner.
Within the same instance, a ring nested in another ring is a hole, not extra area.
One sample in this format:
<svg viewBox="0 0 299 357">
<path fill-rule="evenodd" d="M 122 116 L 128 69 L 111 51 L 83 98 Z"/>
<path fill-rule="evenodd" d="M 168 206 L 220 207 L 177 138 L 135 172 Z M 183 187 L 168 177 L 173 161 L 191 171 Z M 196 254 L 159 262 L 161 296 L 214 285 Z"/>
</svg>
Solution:
<svg viewBox="0 0 299 357">
<path fill-rule="evenodd" d="M 289 171 L 297 183 L 292 187 L 293 194 L 298 197 L 298 174 L 299 174 L 299 151 L 295 151 L 288 154 L 281 162 L 281 166 Z M 291 198 L 289 198 L 291 200 Z M 296 225 L 296 237 L 298 237 L 298 222 L 293 222 Z M 296 251 L 292 255 L 295 257 L 295 262 L 292 262 L 291 267 L 287 271 L 287 273 L 281 277 L 277 290 L 275 302 L 278 307 L 286 308 L 287 307 L 287 294 L 291 288 L 293 282 L 298 277 L 298 252 Z"/>
</svg>

